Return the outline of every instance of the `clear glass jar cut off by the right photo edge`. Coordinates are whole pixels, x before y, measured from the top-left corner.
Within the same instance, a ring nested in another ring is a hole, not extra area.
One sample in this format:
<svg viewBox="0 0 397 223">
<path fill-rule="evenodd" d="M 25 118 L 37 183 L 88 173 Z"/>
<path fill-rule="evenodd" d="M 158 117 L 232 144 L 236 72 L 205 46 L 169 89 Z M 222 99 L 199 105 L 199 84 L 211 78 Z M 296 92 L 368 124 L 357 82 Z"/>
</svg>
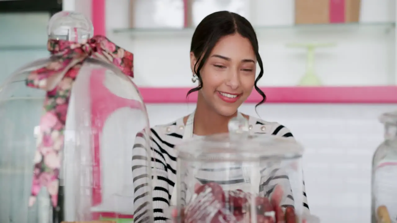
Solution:
<svg viewBox="0 0 397 223">
<path fill-rule="evenodd" d="M 372 223 L 397 222 L 397 112 L 380 117 L 385 140 L 372 160 Z"/>
</svg>

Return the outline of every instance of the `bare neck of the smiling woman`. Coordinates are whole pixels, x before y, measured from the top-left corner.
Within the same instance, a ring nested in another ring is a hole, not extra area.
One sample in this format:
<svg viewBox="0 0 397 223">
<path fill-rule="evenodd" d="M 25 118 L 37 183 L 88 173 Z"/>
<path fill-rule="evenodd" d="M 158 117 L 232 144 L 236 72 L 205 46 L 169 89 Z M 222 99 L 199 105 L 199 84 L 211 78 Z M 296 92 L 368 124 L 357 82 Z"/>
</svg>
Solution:
<svg viewBox="0 0 397 223">
<path fill-rule="evenodd" d="M 237 111 L 231 116 L 224 116 L 210 108 L 204 99 L 198 94 L 197 108 L 193 123 L 193 133 L 196 135 L 212 135 L 227 133 L 229 120 L 237 115 Z"/>
</svg>

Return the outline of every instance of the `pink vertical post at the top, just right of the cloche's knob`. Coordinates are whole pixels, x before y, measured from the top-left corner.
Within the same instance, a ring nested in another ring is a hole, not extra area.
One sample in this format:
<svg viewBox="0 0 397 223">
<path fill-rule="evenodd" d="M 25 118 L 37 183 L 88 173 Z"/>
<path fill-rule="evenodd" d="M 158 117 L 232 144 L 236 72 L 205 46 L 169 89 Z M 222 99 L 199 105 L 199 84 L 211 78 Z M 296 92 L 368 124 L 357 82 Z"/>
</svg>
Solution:
<svg viewBox="0 0 397 223">
<path fill-rule="evenodd" d="M 106 0 L 91 1 L 91 20 L 94 35 L 106 36 Z"/>
</svg>

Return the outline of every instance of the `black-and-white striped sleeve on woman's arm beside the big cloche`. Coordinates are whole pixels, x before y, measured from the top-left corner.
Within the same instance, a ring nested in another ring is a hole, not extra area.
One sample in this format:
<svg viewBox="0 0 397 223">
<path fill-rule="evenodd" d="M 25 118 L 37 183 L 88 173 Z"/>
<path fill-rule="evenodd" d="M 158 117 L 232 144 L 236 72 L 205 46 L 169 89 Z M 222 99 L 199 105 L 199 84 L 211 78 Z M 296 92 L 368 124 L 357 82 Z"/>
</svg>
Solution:
<svg viewBox="0 0 397 223">
<path fill-rule="evenodd" d="M 154 130 L 151 129 L 151 131 Z M 148 215 L 152 212 L 148 210 L 151 198 L 153 207 L 155 207 L 153 209 L 154 221 L 165 223 L 167 218 L 164 215 L 164 210 L 169 207 L 170 202 L 166 160 L 161 152 L 159 140 L 152 136 L 149 136 L 148 139 L 146 137 L 145 133 L 138 133 L 133 147 L 134 223 L 146 222 Z M 156 179 L 152 180 L 152 187 L 148 185 L 148 177 L 151 176 L 148 171 L 147 160 L 150 158 L 151 175 L 156 176 Z M 152 193 L 152 196 L 150 196 L 150 193 Z"/>
</svg>

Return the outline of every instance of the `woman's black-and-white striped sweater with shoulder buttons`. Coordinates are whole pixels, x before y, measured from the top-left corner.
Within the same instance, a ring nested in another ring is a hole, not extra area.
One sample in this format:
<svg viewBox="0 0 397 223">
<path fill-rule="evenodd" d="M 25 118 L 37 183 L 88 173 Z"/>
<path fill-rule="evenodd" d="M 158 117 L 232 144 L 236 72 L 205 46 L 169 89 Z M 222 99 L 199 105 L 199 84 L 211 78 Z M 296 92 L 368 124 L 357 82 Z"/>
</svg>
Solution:
<svg viewBox="0 0 397 223">
<path fill-rule="evenodd" d="M 276 136 L 282 136 L 294 140 L 293 135 L 283 125 L 276 122 L 267 122 L 255 117 L 249 117 L 249 127 L 250 133 L 252 134 L 272 134 Z M 164 210 L 170 206 L 171 196 L 173 193 L 173 188 L 176 182 L 176 152 L 175 145 L 182 142 L 183 134 L 185 131 L 185 124 L 183 123 L 183 118 L 176 120 L 175 122 L 158 125 L 150 129 L 150 143 L 152 148 L 152 171 L 156 171 L 157 179 L 153 179 L 152 186 L 153 190 L 146 185 L 147 173 L 146 173 L 146 149 L 144 144 L 146 144 L 145 134 L 139 133 L 135 138 L 135 145 L 133 148 L 133 164 L 132 164 L 132 174 L 134 179 L 135 188 L 135 200 L 134 200 L 134 223 L 142 223 L 145 221 L 146 216 L 146 201 L 148 192 L 152 192 L 153 198 L 153 212 L 154 221 L 156 223 L 165 223 L 167 218 Z M 204 170 L 203 170 L 204 171 Z M 207 170 L 210 174 L 216 174 L 218 176 L 225 176 L 225 174 L 215 171 L 215 169 Z M 271 194 L 272 188 L 278 184 L 289 184 L 289 179 L 285 173 L 278 173 L 278 169 L 273 170 L 273 177 L 271 179 L 261 179 L 262 188 L 266 191 L 266 194 Z M 201 175 L 201 174 L 200 174 Z M 202 174 L 205 176 L 206 174 Z M 207 180 L 213 181 L 214 176 L 209 177 L 207 174 Z M 205 181 L 206 179 L 201 179 L 199 181 Z M 221 178 L 219 178 L 222 181 Z M 230 179 L 228 179 L 230 180 Z M 244 181 L 241 179 L 232 179 L 229 184 L 241 183 Z M 202 182 L 205 183 L 205 182 Z M 225 181 L 222 181 L 225 184 Z M 308 213 L 308 204 L 306 199 L 306 192 L 304 190 L 303 182 L 303 211 Z M 285 194 L 285 199 L 283 199 L 282 204 L 288 205 L 293 204 L 293 197 L 291 194 Z"/>
</svg>

